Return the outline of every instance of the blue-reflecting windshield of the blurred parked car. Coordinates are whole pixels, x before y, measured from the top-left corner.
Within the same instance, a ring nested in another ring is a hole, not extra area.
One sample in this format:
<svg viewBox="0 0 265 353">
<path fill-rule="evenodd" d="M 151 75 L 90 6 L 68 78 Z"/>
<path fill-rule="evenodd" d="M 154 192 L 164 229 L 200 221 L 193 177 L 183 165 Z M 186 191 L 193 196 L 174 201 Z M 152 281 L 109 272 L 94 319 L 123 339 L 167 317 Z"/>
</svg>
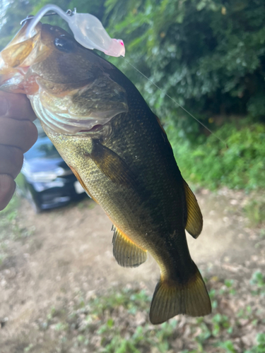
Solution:
<svg viewBox="0 0 265 353">
<path fill-rule="evenodd" d="M 51 140 L 47 137 L 45 132 L 42 129 L 39 121 L 34 121 L 35 125 L 37 126 L 37 133 L 38 138 L 30 150 L 25 153 L 25 159 L 31 160 L 33 158 L 58 158 L 60 157 L 57 149 L 52 144 Z"/>
</svg>

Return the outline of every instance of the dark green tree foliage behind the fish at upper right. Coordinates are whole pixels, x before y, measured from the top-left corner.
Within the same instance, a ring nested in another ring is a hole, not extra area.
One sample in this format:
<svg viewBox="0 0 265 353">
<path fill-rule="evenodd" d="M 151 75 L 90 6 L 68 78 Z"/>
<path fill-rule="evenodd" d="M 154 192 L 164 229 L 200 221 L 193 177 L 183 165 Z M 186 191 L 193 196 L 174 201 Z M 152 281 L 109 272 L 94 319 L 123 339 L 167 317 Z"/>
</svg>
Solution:
<svg viewBox="0 0 265 353">
<path fill-rule="evenodd" d="M 126 59 L 196 116 L 207 121 L 209 114 L 247 110 L 264 116 L 263 0 L 107 0 L 105 5 L 110 31 L 126 44 Z M 122 67 L 158 116 L 186 133 L 196 131 L 195 122 L 176 118 L 177 109 L 163 92 L 136 77 L 126 61 Z"/>
</svg>

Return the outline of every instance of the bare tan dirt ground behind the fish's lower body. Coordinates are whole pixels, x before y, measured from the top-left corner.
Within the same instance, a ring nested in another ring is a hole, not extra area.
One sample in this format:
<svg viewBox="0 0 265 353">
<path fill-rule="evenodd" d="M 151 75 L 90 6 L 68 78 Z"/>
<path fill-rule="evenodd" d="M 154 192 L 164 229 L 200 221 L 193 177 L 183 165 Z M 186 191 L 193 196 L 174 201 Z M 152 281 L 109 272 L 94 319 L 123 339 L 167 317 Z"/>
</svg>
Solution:
<svg viewBox="0 0 265 353">
<path fill-rule="evenodd" d="M 196 196 L 204 230 L 198 239 L 189 234 L 187 239 L 199 268 L 214 265 L 218 275 L 225 275 L 231 263 L 235 267 L 251 261 L 258 250 L 250 246 L 255 236 L 242 216 L 242 193 L 201 190 Z M 16 337 L 32 332 L 37 318 L 47 315 L 57 301 L 71 301 L 80 291 L 89 296 L 98 289 L 133 282 L 144 282 L 152 291 L 155 287 L 159 269 L 152 258 L 139 268 L 117 265 L 112 256 L 112 224 L 88 198 L 40 215 L 23 200 L 16 222 L 30 229 L 30 235 L 8 240 L 0 266 L 0 352 L 24 352 L 13 348 Z"/>
</svg>

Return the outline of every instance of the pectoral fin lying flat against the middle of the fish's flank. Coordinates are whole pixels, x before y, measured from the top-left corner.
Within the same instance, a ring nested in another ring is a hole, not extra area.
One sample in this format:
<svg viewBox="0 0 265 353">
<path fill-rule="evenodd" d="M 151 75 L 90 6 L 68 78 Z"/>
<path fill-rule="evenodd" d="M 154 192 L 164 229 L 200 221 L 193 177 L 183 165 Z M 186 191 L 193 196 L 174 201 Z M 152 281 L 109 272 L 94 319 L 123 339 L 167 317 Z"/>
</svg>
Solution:
<svg viewBox="0 0 265 353">
<path fill-rule="evenodd" d="M 97 164 L 102 173 L 115 184 L 127 188 L 134 188 L 137 185 L 136 177 L 126 162 L 99 141 L 93 141 L 93 150 L 89 153 L 89 157 Z"/>
</svg>

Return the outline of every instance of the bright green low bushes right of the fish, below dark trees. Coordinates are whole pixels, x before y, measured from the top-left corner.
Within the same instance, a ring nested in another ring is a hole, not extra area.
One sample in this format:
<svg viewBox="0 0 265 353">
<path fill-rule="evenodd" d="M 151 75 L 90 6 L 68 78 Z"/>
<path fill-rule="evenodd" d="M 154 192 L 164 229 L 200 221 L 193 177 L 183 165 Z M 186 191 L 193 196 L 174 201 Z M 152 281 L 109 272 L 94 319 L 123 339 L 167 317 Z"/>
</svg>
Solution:
<svg viewBox="0 0 265 353">
<path fill-rule="evenodd" d="M 265 126 L 235 121 L 223 125 L 216 135 L 228 144 L 228 148 L 215 136 L 201 144 L 190 143 L 167 126 L 166 131 L 179 169 L 184 179 L 216 189 L 262 189 L 265 180 Z"/>
</svg>

